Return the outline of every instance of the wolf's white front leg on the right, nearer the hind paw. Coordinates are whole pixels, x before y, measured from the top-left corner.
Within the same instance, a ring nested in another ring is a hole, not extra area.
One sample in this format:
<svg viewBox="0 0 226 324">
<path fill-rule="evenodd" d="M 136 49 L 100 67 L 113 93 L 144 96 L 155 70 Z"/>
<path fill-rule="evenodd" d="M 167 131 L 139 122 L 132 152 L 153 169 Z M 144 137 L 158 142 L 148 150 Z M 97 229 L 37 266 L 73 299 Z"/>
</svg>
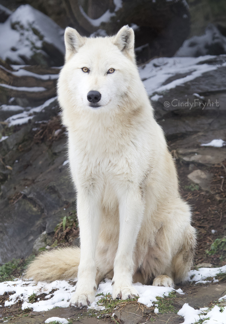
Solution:
<svg viewBox="0 0 226 324">
<path fill-rule="evenodd" d="M 145 203 L 139 188 L 129 191 L 127 189 L 127 192 L 122 194 L 119 202 L 119 244 L 112 279 L 113 298 L 125 300 L 138 295 L 136 289 L 132 287 L 133 251 L 141 227 L 144 208 Z"/>
</svg>

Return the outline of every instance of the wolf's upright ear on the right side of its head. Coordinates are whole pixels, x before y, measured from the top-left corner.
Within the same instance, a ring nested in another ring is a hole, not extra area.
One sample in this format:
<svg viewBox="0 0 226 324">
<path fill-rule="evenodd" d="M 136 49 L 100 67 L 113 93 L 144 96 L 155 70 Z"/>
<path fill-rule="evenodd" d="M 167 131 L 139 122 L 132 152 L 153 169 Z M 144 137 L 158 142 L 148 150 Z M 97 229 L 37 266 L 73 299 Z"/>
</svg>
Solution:
<svg viewBox="0 0 226 324">
<path fill-rule="evenodd" d="M 128 25 L 123 26 L 115 35 L 115 45 L 124 52 L 134 57 L 134 31 Z"/>
</svg>

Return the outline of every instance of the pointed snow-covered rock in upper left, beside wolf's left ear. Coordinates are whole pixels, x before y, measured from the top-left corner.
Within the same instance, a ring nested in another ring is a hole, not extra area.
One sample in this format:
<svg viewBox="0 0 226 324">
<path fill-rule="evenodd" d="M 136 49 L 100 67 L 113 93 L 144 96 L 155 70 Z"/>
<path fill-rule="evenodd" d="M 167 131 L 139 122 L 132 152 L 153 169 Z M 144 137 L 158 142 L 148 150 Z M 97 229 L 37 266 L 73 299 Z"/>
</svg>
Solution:
<svg viewBox="0 0 226 324">
<path fill-rule="evenodd" d="M 14 64 L 41 64 L 51 60 L 49 54 L 54 52 L 63 58 L 63 32 L 44 13 L 29 4 L 20 5 L 0 23 L 0 57 Z"/>
</svg>

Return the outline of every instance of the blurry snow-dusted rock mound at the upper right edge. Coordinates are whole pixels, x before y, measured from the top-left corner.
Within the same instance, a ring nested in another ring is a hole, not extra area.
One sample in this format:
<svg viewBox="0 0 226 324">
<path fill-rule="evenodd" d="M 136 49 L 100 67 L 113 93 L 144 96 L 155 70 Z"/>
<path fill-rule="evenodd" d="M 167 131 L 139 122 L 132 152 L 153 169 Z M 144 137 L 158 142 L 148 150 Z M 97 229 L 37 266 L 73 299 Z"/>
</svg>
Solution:
<svg viewBox="0 0 226 324">
<path fill-rule="evenodd" d="M 193 36 L 184 41 L 175 56 L 226 54 L 226 37 L 221 34 L 214 24 L 209 24 L 202 36 Z"/>
</svg>

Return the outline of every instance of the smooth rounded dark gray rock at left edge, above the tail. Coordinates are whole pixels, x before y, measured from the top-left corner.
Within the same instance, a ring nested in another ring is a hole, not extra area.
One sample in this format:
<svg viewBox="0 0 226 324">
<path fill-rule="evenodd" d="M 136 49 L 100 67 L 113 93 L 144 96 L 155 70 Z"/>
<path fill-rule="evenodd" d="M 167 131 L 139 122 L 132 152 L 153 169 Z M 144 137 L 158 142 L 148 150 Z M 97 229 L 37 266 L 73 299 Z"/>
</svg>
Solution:
<svg viewBox="0 0 226 324">
<path fill-rule="evenodd" d="M 27 257 L 45 226 L 39 206 L 21 195 L 16 203 L 1 200 L 0 210 L 0 264 Z"/>
</svg>

